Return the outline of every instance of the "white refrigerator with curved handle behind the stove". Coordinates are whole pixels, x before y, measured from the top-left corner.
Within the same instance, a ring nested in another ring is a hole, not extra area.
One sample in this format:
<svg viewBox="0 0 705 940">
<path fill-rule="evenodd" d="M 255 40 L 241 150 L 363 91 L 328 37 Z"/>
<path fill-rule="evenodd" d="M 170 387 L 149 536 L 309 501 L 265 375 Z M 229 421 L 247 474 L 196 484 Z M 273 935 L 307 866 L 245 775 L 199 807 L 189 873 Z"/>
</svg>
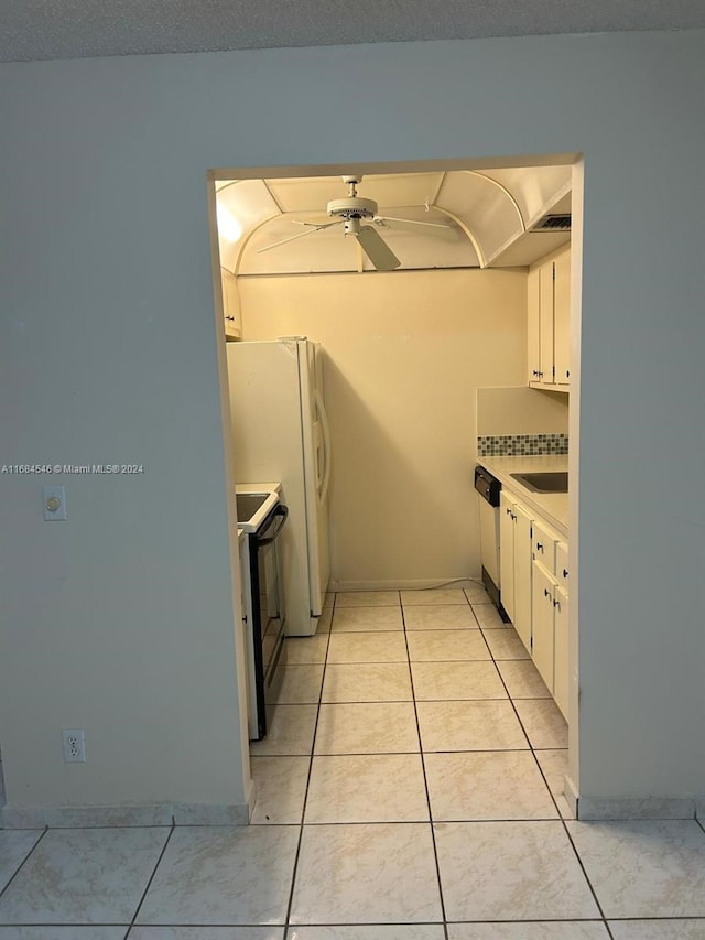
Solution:
<svg viewBox="0 0 705 940">
<path fill-rule="evenodd" d="M 237 484 L 279 480 L 286 633 L 315 634 L 330 575 L 323 354 L 305 337 L 228 343 Z"/>
</svg>

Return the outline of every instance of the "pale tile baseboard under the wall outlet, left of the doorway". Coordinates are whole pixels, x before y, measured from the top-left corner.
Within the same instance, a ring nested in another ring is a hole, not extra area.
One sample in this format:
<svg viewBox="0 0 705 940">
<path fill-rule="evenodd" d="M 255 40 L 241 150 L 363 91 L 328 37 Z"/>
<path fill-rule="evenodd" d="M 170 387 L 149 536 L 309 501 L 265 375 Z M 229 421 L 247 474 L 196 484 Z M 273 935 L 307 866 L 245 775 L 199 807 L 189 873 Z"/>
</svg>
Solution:
<svg viewBox="0 0 705 940">
<path fill-rule="evenodd" d="M 253 791 L 250 799 L 254 800 Z M 249 802 L 249 801 L 248 801 Z M 248 825 L 248 803 L 155 803 L 129 807 L 3 807 L 4 829 L 97 829 L 134 825 Z"/>
</svg>

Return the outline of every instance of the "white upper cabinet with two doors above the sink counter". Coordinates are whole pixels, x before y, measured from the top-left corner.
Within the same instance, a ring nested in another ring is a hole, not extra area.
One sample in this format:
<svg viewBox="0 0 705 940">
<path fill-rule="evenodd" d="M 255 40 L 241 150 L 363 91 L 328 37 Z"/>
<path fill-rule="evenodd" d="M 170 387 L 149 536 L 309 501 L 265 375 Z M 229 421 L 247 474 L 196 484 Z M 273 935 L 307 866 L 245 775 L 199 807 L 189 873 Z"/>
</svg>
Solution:
<svg viewBox="0 0 705 940">
<path fill-rule="evenodd" d="M 529 385 L 553 391 L 568 391 L 570 249 L 532 266 L 527 289 Z"/>
</svg>

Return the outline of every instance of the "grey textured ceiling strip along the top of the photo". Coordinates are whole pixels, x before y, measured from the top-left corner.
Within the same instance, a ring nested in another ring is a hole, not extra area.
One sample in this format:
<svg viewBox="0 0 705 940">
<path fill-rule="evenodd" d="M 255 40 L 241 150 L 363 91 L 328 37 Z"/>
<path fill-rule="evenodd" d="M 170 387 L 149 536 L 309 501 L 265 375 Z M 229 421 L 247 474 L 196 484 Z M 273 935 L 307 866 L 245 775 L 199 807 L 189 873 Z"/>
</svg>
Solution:
<svg viewBox="0 0 705 940">
<path fill-rule="evenodd" d="M 702 28 L 703 0 L 0 0 L 0 62 Z"/>
</svg>

